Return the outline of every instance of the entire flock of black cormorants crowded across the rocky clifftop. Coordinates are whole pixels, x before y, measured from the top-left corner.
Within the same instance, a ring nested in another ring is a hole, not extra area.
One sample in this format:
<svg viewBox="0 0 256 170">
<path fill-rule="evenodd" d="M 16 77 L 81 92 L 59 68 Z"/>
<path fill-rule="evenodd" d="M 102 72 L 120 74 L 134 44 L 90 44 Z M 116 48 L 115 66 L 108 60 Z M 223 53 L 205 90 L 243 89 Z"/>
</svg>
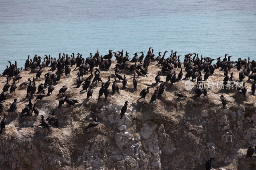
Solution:
<svg viewBox="0 0 256 170">
<path fill-rule="evenodd" d="M 21 86 L 27 86 L 27 95 L 26 98 L 29 99 L 28 105 L 24 109 L 22 109 L 21 116 L 31 116 L 34 112 L 35 115 L 39 116 L 39 111 L 36 107 L 36 104 L 32 104 L 31 99 L 33 98 L 34 94 L 38 94 L 36 96 L 36 100 L 42 100 L 43 98 L 52 95 L 52 92 L 54 91 L 55 87 L 53 83 L 60 82 L 63 75 L 68 76 L 70 74 L 71 68 L 74 68 L 74 70 L 77 69 L 77 79 L 76 79 L 76 88 L 80 88 L 81 85 L 83 85 L 80 92 L 87 92 L 87 98 L 92 98 L 93 93 L 93 84 L 101 83 L 101 88 L 99 90 L 98 100 L 104 95 L 104 101 L 108 100 L 109 96 L 109 85 L 111 83 L 110 76 L 108 76 L 108 81 L 103 82 L 101 79 L 101 71 L 108 71 L 111 64 L 114 63 L 112 59 L 113 55 L 115 57 L 115 78 L 114 82 L 112 84 L 112 94 L 114 95 L 115 92 L 119 94 L 119 86 L 117 84 L 117 81 L 120 82 L 122 80 L 122 90 L 125 90 L 127 87 L 128 79 L 126 78 L 126 75 L 121 75 L 120 70 L 125 70 L 129 72 L 133 72 L 134 77 L 132 79 L 133 84 L 133 90 L 137 90 L 138 80 L 137 78 L 148 76 L 148 67 L 149 64 L 157 62 L 155 64 L 156 66 L 160 65 L 160 70 L 157 72 L 157 75 L 155 77 L 155 85 L 157 85 L 156 89 L 154 90 L 154 93 L 150 99 L 150 102 L 156 101 L 158 97 L 160 97 L 165 90 L 165 86 L 167 83 L 170 82 L 170 86 L 175 84 L 176 82 L 180 81 L 183 77 L 183 70 L 186 72 L 184 79 L 191 79 L 191 81 L 196 81 L 196 90 L 195 90 L 195 97 L 199 97 L 202 94 L 204 94 L 204 97 L 207 95 L 207 89 L 204 88 L 203 81 L 206 81 L 210 75 L 214 74 L 214 71 L 216 69 L 220 69 L 220 71 L 223 71 L 224 79 L 224 90 L 226 88 L 226 85 L 231 84 L 235 85 L 236 78 L 233 76 L 233 73 L 231 72 L 231 69 L 235 66 L 236 69 L 239 72 L 238 76 L 238 82 L 242 82 L 246 76 L 248 76 L 247 82 L 253 80 L 252 83 L 252 95 L 255 94 L 256 89 L 256 61 L 250 61 L 250 57 L 248 58 L 248 61 L 246 59 L 238 58 L 238 61 L 231 61 L 232 56 L 228 56 L 226 54 L 224 58 L 221 60 L 221 57 L 218 57 L 217 59 L 212 59 L 211 57 L 203 57 L 202 55 L 199 57 L 196 53 L 189 53 L 184 56 L 184 61 L 181 62 L 180 56 L 177 55 L 177 51 L 173 52 L 171 51 L 171 55 L 169 57 L 165 57 L 166 53 L 168 51 L 164 52 L 164 55 L 161 56 L 162 52 L 158 53 L 158 56 L 155 57 L 154 49 L 149 48 L 147 55 L 144 57 L 144 53 L 141 51 L 138 56 L 138 52 L 134 53 L 132 59 L 129 58 L 129 53 L 126 51 L 124 55 L 124 50 L 118 51 L 118 52 L 112 52 L 112 50 L 109 50 L 109 53 L 107 55 L 100 55 L 99 50 L 96 51 L 96 53 L 92 56 L 92 53 L 90 53 L 90 57 L 83 58 L 82 54 L 77 53 L 77 57 L 75 57 L 75 54 L 72 53 L 72 55 L 64 54 L 61 55 L 59 53 L 59 58 L 56 60 L 56 58 L 52 58 L 51 55 L 44 55 L 45 57 L 42 59 L 40 56 L 34 55 L 33 59 L 30 59 L 30 55 L 28 55 L 28 59 L 25 61 L 24 70 L 31 69 L 31 73 L 35 73 L 36 71 L 36 78 L 33 77 L 33 80 L 31 81 L 30 78 L 28 78 L 28 81 L 20 83 L 19 87 Z M 43 60 L 43 61 L 42 61 Z M 214 60 L 217 60 L 216 64 L 212 64 Z M 16 81 L 19 81 L 22 76 L 20 71 L 21 68 L 17 67 L 17 62 L 15 61 L 15 64 L 8 61 L 10 64 L 9 66 L 6 65 L 6 69 L 2 73 L 1 77 L 6 76 L 6 84 L 3 87 L 3 91 L 0 94 L 0 112 L 4 110 L 4 105 L 2 102 L 6 99 L 8 90 L 11 94 L 12 92 L 15 92 L 17 89 Z M 133 64 L 131 64 L 133 63 Z M 182 64 L 184 67 L 182 68 Z M 242 66 L 244 66 L 244 69 L 241 71 Z M 97 68 L 98 67 L 98 68 Z M 42 68 L 50 68 L 49 72 L 44 74 L 44 83 L 39 84 L 36 86 L 36 79 L 41 77 L 42 74 Z M 39 70 L 38 70 L 39 69 Z M 176 71 L 180 69 L 180 72 L 178 73 L 178 76 L 176 75 Z M 73 70 L 73 71 L 74 71 Z M 230 74 L 231 72 L 231 74 Z M 89 76 L 87 78 L 83 78 L 84 75 L 87 75 L 89 73 Z M 161 73 L 166 73 L 166 80 L 161 81 Z M 202 75 L 204 73 L 204 77 Z M 230 77 L 228 76 L 230 74 Z M 93 79 L 92 79 L 93 78 Z M 204 79 L 203 79 L 204 78 Z M 12 85 L 9 84 L 9 80 L 12 79 L 13 83 Z M 83 83 L 84 82 L 84 83 Z M 160 85 L 159 85 L 160 83 Z M 47 88 L 48 86 L 48 88 Z M 146 98 L 146 95 L 149 93 L 149 89 L 154 87 L 147 87 L 146 89 L 143 89 L 139 94 L 139 99 Z M 36 92 L 37 89 L 37 92 Z M 45 90 L 47 89 L 47 94 L 45 93 Z M 68 89 L 67 85 L 63 85 L 57 96 L 62 93 L 63 97 L 59 100 L 59 106 L 60 109 L 61 105 L 64 105 L 66 102 L 68 105 L 74 105 L 78 103 L 78 100 L 76 99 L 70 99 L 65 95 L 66 90 Z M 237 89 L 236 94 L 243 94 L 244 97 L 246 97 L 247 88 L 245 86 L 245 82 L 243 82 L 242 87 Z M 174 93 L 178 98 L 186 98 L 187 96 L 180 92 Z M 227 100 L 226 98 L 221 95 L 220 99 L 222 101 L 223 108 L 226 108 Z M 11 104 L 9 112 L 15 112 L 17 109 L 18 100 L 14 99 L 14 102 Z M 124 113 L 128 107 L 128 101 L 125 102 L 124 106 L 121 109 L 121 118 L 124 116 Z M 53 113 L 50 117 L 48 117 L 46 120 L 44 119 L 43 115 L 41 116 L 41 124 L 39 126 L 44 126 L 45 128 L 48 128 L 50 125 L 55 125 L 59 128 L 58 125 L 58 118 Z M 3 129 L 5 128 L 6 124 L 6 114 L 4 113 L 4 118 L 1 121 L 1 131 L 2 133 Z M 99 123 L 97 122 L 97 119 L 95 119 L 95 122 L 91 122 L 86 129 L 89 127 L 97 126 Z M 249 149 L 248 149 L 249 150 Z M 213 158 L 207 161 L 206 167 L 211 166 Z M 206 168 L 207 169 L 207 168 Z"/>
</svg>

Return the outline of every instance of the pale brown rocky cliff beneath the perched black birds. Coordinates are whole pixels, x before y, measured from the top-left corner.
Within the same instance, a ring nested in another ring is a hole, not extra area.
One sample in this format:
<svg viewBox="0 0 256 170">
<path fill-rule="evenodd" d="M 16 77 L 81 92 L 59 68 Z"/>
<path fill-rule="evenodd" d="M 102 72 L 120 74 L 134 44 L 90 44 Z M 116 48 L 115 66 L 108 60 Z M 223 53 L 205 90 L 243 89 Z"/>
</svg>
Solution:
<svg viewBox="0 0 256 170">
<path fill-rule="evenodd" d="M 44 83 L 43 75 L 48 70 L 43 69 L 36 86 Z M 37 103 L 39 115 L 45 118 L 55 110 L 60 129 L 51 127 L 50 132 L 37 127 L 40 117 L 34 114 L 20 116 L 28 104 L 27 89 L 17 88 L 3 102 L 5 109 L 1 116 L 7 114 L 7 125 L 0 135 L 1 169 L 204 169 L 206 160 L 211 157 L 214 169 L 255 169 L 256 156 L 245 158 L 248 146 L 255 147 L 256 143 L 252 93 L 248 92 L 245 98 L 232 89 L 208 89 L 206 97 L 195 98 L 195 88 L 186 90 L 182 80 L 173 86 L 168 83 L 156 102 L 148 103 L 154 90 L 150 90 L 145 101 L 137 101 L 142 89 L 156 87 L 154 78 L 158 70 L 160 67 L 150 65 L 148 77 L 137 78 L 137 91 L 133 90 L 132 72 L 125 72 L 127 89 L 121 90 L 122 82 L 118 82 L 120 94 L 110 95 L 105 102 L 104 98 L 97 100 L 100 84 L 93 85 L 93 98 L 86 99 L 86 92 L 79 92 L 82 86 L 76 88 L 78 70 L 71 71 L 60 83 L 54 84 L 51 96 L 36 102 L 32 100 L 33 104 Z M 238 71 L 234 68 L 231 71 L 238 78 Z M 21 71 L 20 82 L 35 74 L 30 70 Z M 107 81 L 108 75 L 111 76 L 111 89 L 114 71 L 101 72 L 103 81 Z M 223 72 L 215 70 L 208 81 L 222 81 L 223 78 Z M 164 74 L 161 80 L 165 81 Z M 1 77 L 0 81 L 2 89 L 6 78 Z M 65 103 L 58 109 L 62 96 L 56 95 L 63 85 L 68 85 L 66 95 L 79 101 L 75 107 Z M 246 85 L 250 91 L 251 83 Z M 178 99 L 174 92 L 183 92 L 187 97 Z M 221 94 L 228 100 L 226 109 L 222 108 Z M 19 101 L 18 109 L 8 112 L 14 98 Z M 126 100 L 130 104 L 120 119 L 120 110 Z M 99 125 L 85 130 L 96 117 Z"/>
</svg>

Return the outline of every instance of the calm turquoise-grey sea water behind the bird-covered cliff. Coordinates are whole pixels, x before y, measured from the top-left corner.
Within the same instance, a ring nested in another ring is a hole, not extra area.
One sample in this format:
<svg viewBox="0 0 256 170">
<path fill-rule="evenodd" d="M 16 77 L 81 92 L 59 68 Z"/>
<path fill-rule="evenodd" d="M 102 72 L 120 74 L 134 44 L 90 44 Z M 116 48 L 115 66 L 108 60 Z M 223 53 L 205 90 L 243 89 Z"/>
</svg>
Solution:
<svg viewBox="0 0 256 170">
<path fill-rule="evenodd" d="M 0 1 L 0 72 L 28 55 L 154 48 L 256 60 L 256 2 L 245 1 Z M 130 55 L 132 56 L 132 55 Z"/>
</svg>

